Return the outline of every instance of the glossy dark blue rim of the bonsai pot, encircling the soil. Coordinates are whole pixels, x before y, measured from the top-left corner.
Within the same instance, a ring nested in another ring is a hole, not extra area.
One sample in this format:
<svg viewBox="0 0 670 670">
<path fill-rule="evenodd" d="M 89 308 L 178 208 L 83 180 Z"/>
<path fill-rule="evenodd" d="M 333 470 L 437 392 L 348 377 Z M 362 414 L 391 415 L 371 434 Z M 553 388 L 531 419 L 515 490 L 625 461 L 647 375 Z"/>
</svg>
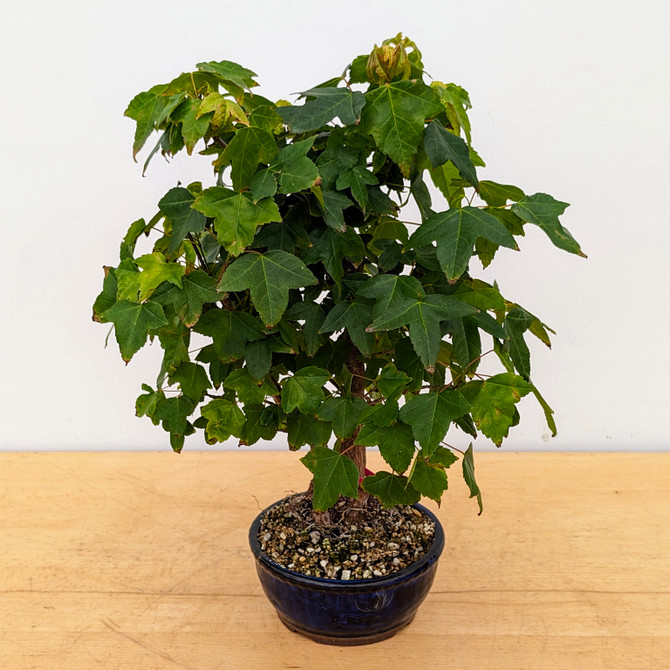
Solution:
<svg viewBox="0 0 670 670">
<path fill-rule="evenodd" d="M 251 551 L 253 552 L 256 560 L 265 565 L 270 570 L 284 575 L 285 577 L 290 577 L 294 582 L 303 583 L 311 586 L 319 586 L 319 588 L 337 588 L 341 589 L 342 587 L 364 587 L 364 586 L 384 586 L 386 584 L 394 583 L 401 581 L 403 578 L 412 577 L 414 574 L 419 573 L 423 570 L 426 564 L 432 563 L 434 560 L 439 558 L 442 550 L 444 549 L 444 529 L 439 519 L 431 512 L 428 508 L 424 507 L 420 503 L 415 503 L 410 505 L 415 509 L 418 509 L 422 514 L 427 516 L 435 523 L 435 534 L 433 537 L 433 543 L 430 545 L 426 553 L 421 556 L 421 558 L 414 561 L 410 565 L 398 570 L 397 572 L 392 572 L 388 575 L 383 575 L 382 577 L 370 577 L 368 579 L 328 579 L 326 577 L 311 577 L 309 575 L 303 575 L 299 572 L 294 572 L 289 568 L 285 568 L 283 565 L 273 561 L 267 554 L 261 549 L 260 541 L 258 539 L 258 530 L 260 528 L 261 519 L 265 513 L 281 504 L 288 498 L 292 496 L 286 496 L 281 500 L 277 500 L 272 505 L 266 507 L 253 521 L 251 527 L 249 528 L 249 545 L 251 546 Z"/>
</svg>

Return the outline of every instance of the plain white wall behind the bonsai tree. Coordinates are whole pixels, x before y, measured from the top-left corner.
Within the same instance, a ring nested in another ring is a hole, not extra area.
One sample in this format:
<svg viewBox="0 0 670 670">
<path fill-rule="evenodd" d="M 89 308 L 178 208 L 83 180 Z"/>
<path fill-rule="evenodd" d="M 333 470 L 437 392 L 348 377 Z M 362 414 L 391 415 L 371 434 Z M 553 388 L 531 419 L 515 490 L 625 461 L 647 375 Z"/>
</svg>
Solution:
<svg viewBox="0 0 670 670">
<path fill-rule="evenodd" d="M 266 97 L 288 97 L 401 30 L 430 74 L 469 91 L 483 176 L 570 202 L 563 222 L 589 255 L 569 256 L 531 230 L 522 254 L 494 264 L 504 294 L 558 332 L 552 351 L 534 347 L 533 379 L 559 436 L 548 440 L 526 398 L 504 448 L 666 449 L 668 7 L 11 3 L 0 40 L 0 449 L 169 449 L 166 433 L 134 417 L 157 347 L 124 367 L 115 347 L 104 349 L 107 328 L 91 321 L 91 303 L 127 226 L 151 216 L 178 179 L 209 179 L 209 164 L 158 158 L 142 178 L 127 102 L 222 59 L 257 72 Z"/>
</svg>

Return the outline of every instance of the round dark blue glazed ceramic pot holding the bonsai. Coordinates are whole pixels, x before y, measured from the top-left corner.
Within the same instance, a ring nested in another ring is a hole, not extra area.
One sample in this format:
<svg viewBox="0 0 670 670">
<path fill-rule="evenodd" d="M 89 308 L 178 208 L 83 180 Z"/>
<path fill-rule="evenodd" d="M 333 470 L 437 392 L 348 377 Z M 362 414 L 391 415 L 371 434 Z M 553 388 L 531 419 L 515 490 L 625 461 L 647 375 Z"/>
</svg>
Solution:
<svg viewBox="0 0 670 670">
<path fill-rule="evenodd" d="M 356 645 L 385 640 L 410 623 L 430 590 L 444 548 L 435 515 L 422 505 L 414 507 L 435 522 L 431 548 L 393 574 L 347 581 L 306 577 L 268 558 L 258 541 L 261 512 L 249 530 L 249 544 L 265 595 L 284 625 L 316 642 Z"/>
</svg>

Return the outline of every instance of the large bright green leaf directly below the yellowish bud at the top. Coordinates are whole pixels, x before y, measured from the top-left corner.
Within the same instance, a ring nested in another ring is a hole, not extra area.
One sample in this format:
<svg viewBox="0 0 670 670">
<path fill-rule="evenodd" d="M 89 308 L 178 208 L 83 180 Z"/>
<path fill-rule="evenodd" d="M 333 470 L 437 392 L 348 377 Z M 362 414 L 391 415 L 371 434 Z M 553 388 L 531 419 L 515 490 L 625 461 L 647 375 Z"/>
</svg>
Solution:
<svg viewBox="0 0 670 670">
<path fill-rule="evenodd" d="M 365 94 L 361 128 L 397 163 L 405 177 L 423 137 L 427 117 L 442 106 L 435 92 L 421 81 L 396 81 Z"/>
</svg>

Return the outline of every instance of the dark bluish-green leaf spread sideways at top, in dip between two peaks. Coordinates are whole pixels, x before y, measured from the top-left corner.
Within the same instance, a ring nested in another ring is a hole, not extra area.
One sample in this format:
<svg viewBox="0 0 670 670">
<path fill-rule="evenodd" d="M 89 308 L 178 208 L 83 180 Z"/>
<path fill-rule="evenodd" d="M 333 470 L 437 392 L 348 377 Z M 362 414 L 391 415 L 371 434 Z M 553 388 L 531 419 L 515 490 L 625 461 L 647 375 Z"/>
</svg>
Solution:
<svg viewBox="0 0 670 670">
<path fill-rule="evenodd" d="M 278 112 L 291 132 L 307 133 L 339 117 L 345 126 L 358 122 L 365 98 L 348 88 L 313 88 L 300 94 L 310 98 L 304 105 L 279 107 Z"/>
</svg>

